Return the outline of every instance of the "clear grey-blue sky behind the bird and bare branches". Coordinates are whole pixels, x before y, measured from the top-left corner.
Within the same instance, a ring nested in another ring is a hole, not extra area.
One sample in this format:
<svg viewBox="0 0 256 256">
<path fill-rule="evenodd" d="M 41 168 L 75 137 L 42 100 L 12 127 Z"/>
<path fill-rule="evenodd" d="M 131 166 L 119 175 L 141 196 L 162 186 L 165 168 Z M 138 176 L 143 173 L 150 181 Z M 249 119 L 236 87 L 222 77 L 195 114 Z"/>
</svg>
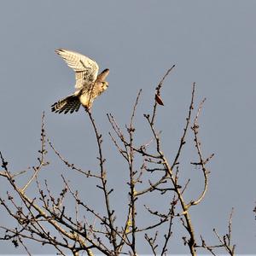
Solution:
<svg viewBox="0 0 256 256">
<path fill-rule="evenodd" d="M 15 172 L 37 163 L 43 111 L 47 135 L 55 147 L 78 166 L 96 165 L 96 149 L 91 150 L 96 148 L 95 138 L 84 112 L 50 113 L 50 105 L 71 94 L 74 84 L 73 71 L 54 50 L 73 49 L 95 59 L 101 70 L 110 69 L 108 91 L 96 99 L 93 114 L 104 136 L 106 155 L 112 158 L 109 175 L 117 191 L 122 189 L 122 160 L 108 137 L 111 127 L 106 113 L 113 113 L 122 125 L 128 123 L 142 88 L 137 129 L 143 131 L 142 116 L 150 111 L 154 87 L 175 64 L 164 85 L 165 107 L 160 108 L 157 123 L 166 152 L 172 159 L 195 82 L 196 102 L 207 97 L 200 119 L 204 154 L 215 153 L 208 166 L 207 196 L 191 212 L 196 235 L 214 243 L 212 228 L 225 234 L 230 210 L 235 207 L 237 253 L 256 253 L 255 10 L 255 1 L 236 0 L 4 1 L 0 9 L 0 150 L 9 168 Z M 52 152 L 49 160 L 44 177 L 54 177 L 55 187 L 61 189 L 63 165 Z M 189 191 L 197 195 L 201 175 L 191 168 L 183 172 L 196 173 Z M 76 182 L 79 185 L 79 178 Z M 1 188 L 4 195 L 4 185 Z M 124 201 L 121 197 L 115 200 Z M 1 243 L 1 253 L 22 253 Z M 49 253 L 49 248 L 31 247 L 34 253 Z M 173 253 L 188 250 L 178 241 Z"/>
</svg>

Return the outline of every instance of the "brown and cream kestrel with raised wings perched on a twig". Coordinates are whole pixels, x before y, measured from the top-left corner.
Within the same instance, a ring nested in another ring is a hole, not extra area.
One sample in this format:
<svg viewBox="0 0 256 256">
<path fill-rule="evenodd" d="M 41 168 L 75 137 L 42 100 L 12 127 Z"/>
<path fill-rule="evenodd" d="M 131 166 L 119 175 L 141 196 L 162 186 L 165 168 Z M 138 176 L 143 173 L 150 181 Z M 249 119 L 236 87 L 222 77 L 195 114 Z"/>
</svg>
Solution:
<svg viewBox="0 0 256 256">
<path fill-rule="evenodd" d="M 90 111 L 96 97 L 108 89 L 106 78 L 109 69 L 106 68 L 98 74 L 99 66 L 96 61 L 85 55 L 68 49 L 55 49 L 55 53 L 66 61 L 68 67 L 73 68 L 76 84 L 75 92 L 51 105 L 51 111 L 54 113 L 78 112 L 80 105 L 86 111 Z"/>
</svg>

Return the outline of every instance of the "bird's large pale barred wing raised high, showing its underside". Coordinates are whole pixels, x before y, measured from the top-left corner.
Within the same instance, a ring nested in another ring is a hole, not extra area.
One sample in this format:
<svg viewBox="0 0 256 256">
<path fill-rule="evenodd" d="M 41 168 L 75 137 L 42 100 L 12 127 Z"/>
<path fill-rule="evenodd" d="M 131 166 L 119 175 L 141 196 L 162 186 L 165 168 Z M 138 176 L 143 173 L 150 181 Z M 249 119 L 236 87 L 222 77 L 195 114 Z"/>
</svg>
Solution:
<svg viewBox="0 0 256 256">
<path fill-rule="evenodd" d="M 55 52 L 61 55 L 63 60 L 67 62 L 68 67 L 73 68 L 76 77 L 75 88 L 78 90 L 83 87 L 90 88 L 99 72 L 99 66 L 96 61 L 67 49 L 55 49 Z"/>
</svg>

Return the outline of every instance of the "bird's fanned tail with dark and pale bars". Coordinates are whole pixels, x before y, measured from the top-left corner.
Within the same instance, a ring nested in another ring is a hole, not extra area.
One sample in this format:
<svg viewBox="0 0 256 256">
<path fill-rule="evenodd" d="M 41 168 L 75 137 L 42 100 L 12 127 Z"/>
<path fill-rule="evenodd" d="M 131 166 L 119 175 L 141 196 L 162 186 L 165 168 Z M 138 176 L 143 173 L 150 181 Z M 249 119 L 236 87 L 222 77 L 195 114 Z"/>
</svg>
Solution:
<svg viewBox="0 0 256 256">
<path fill-rule="evenodd" d="M 71 95 L 67 96 L 64 99 L 61 99 L 58 102 L 55 102 L 51 106 L 51 111 L 55 113 L 73 113 L 74 111 L 78 112 L 80 108 L 79 96 Z"/>
</svg>

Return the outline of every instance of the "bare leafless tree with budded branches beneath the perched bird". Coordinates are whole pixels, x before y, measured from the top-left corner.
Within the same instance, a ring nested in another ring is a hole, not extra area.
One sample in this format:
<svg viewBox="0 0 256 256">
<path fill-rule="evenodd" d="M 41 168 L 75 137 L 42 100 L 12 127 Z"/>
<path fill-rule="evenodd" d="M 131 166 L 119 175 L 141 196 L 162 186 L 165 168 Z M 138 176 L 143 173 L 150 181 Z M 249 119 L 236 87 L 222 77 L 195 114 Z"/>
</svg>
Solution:
<svg viewBox="0 0 256 256">
<path fill-rule="evenodd" d="M 161 134 L 155 122 L 157 109 L 159 105 L 164 104 L 160 96 L 162 86 L 173 68 L 174 66 L 166 72 L 163 79 L 160 80 L 160 84 L 155 88 L 152 113 L 143 115 L 146 127 L 151 132 L 151 137 L 148 138 L 147 143 L 137 144 L 135 139 L 137 132 L 135 116 L 142 90 L 137 95 L 131 118 L 128 125 L 125 125 L 125 129 L 119 125 L 113 114 L 107 114 L 112 127 L 109 136 L 113 146 L 127 166 L 126 172 L 129 173 L 128 180 L 124 179 L 123 181 L 124 186 L 128 185 L 129 198 L 126 208 L 122 210 L 125 212 L 123 221 L 120 221 L 122 218 L 119 218 L 119 211 L 113 203 L 113 194 L 119 192 L 110 187 L 102 149 L 102 134 L 92 113 L 90 111 L 84 112 L 89 116 L 96 137 L 98 170 L 95 172 L 84 171 L 62 156 L 46 136 L 43 114 L 38 166 L 33 167 L 33 174 L 27 178 L 24 186 L 20 186 L 19 179 L 21 176 L 31 173 L 31 170 L 12 172 L 9 170 L 8 162 L 4 159 L 3 154 L 0 153 L 3 167 L 0 175 L 10 185 L 5 198 L 2 196 L 0 201 L 9 217 L 17 223 L 16 227 L 1 224 L 1 240 L 12 241 L 15 247 L 24 247 L 28 254 L 30 252 L 26 240 L 55 247 L 56 253 L 61 255 L 67 253 L 73 253 L 73 255 L 82 253 L 87 255 L 96 253 L 138 255 L 140 253 L 138 244 L 144 244 L 144 247 L 150 248 L 154 255 L 166 255 L 172 253 L 170 241 L 173 239 L 173 226 L 179 225 L 186 232 L 186 235 L 179 239 L 183 241 L 185 247 L 189 248 L 191 255 L 195 255 L 198 250 L 207 251 L 213 255 L 223 251 L 233 255 L 235 252 L 235 246 L 231 243 L 233 210 L 230 214 L 227 234 L 220 236 L 217 230 L 213 230 L 217 238 L 215 245 L 209 245 L 203 236 L 195 235 L 195 228 L 190 215 L 190 209 L 198 206 L 207 193 L 210 173 L 207 169 L 207 163 L 213 157 L 213 154 L 204 156 L 201 149 L 199 116 L 206 99 L 202 100 L 197 110 L 194 109 L 195 84 L 192 86 L 188 114 L 176 154 L 172 155 L 173 159 L 167 157 L 162 147 Z M 180 158 L 189 131 L 192 132 L 197 155 L 197 160 L 190 161 L 190 164 L 201 170 L 201 175 L 204 177 L 201 193 L 193 200 L 187 200 L 185 196 L 185 191 L 191 186 L 190 179 L 185 183 L 179 179 L 182 172 Z M 90 183 L 96 184 L 95 189 L 99 190 L 102 195 L 101 211 L 96 211 L 94 207 L 86 203 L 81 196 L 83 190 L 76 189 L 76 186 L 65 175 L 60 176 L 63 188 L 59 195 L 53 193 L 47 179 L 43 181 L 40 179 L 42 169 L 49 166 L 49 161 L 46 160 L 48 148 L 53 150 L 61 162 L 72 172 L 79 173 L 85 181 L 90 180 Z M 35 185 L 33 196 L 27 192 L 28 189 L 32 188 L 32 184 Z M 143 205 L 144 197 L 154 200 L 149 205 Z M 72 209 L 71 200 L 74 206 Z M 164 210 L 156 210 L 155 201 L 165 202 Z M 142 207 L 146 224 L 141 224 L 137 217 Z"/>
</svg>

